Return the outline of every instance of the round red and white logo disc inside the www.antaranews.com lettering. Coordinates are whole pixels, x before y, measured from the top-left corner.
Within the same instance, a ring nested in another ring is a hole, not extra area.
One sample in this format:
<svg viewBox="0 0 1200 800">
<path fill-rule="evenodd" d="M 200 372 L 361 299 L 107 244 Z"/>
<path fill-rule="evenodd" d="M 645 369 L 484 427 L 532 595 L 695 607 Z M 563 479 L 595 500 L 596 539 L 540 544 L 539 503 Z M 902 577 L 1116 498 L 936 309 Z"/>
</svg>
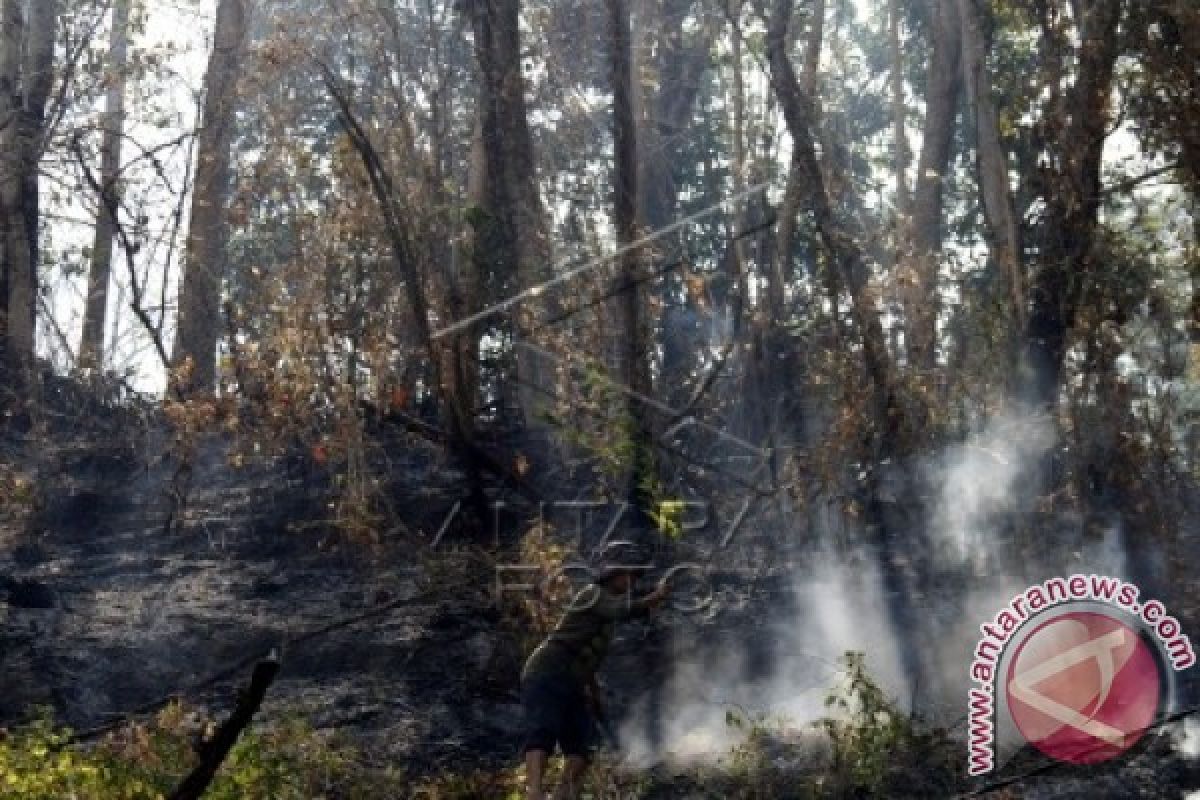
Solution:
<svg viewBox="0 0 1200 800">
<path fill-rule="evenodd" d="M 1069 612 L 1021 642 L 1004 688 L 1013 722 L 1034 747 L 1096 764 L 1141 739 L 1164 687 L 1154 652 L 1132 627 L 1104 613 Z"/>
</svg>

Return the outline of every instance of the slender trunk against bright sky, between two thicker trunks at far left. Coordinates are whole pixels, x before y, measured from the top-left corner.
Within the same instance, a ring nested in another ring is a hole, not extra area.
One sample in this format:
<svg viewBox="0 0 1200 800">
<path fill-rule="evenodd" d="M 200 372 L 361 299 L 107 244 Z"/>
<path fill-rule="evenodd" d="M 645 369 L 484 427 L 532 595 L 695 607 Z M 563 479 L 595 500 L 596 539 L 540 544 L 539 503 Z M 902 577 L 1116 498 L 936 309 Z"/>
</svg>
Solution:
<svg viewBox="0 0 1200 800">
<path fill-rule="evenodd" d="M 104 101 L 103 143 L 101 144 L 101 186 L 110 201 L 101 198 L 96 218 L 96 237 L 88 273 L 88 305 L 79 342 L 79 366 L 102 369 L 104 359 L 104 315 L 108 306 L 108 282 L 113 266 L 113 237 L 116 221 L 110 207 L 119 205 L 116 180 L 121 167 L 121 137 L 125 130 L 125 72 L 128 62 L 130 0 L 113 6 L 113 32 L 109 44 L 112 83 Z"/>
</svg>

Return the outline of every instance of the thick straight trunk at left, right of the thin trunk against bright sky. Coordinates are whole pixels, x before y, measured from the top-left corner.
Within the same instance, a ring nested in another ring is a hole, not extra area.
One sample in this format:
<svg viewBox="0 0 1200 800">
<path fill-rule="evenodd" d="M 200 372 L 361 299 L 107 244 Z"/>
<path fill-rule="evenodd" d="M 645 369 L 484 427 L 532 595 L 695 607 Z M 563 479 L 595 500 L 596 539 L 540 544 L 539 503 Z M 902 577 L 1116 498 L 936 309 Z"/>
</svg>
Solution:
<svg viewBox="0 0 1200 800">
<path fill-rule="evenodd" d="M 205 73 L 204 116 L 197 143 L 196 186 L 182 287 L 179 331 L 172 362 L 185 391 L 209 392 L 216 385 L 221 284 L 224 277 L 228 227 L 229 156 L 234 133 L 238 73 L 246 46 L 244 0 L 218 0 L 212 54 Z"/>
</svg>

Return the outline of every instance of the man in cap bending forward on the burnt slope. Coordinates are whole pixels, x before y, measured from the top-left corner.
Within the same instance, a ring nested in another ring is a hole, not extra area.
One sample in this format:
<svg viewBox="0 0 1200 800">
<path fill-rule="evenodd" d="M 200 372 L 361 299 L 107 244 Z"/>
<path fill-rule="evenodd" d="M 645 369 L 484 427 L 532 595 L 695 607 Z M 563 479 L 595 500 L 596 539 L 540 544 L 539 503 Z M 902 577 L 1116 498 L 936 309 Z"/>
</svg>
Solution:
<svg viewBox="0 0 1200 800">
<path fill-rule="evenodd" d="M 670 590 L 665 583 L 640 600 L 632 589 L 640 567 L 611 563 L 580 590 L 563 618 L 529 656 L 521 673 L 527 738 L 527 799 L 545 800 L 542 775 L 554 745 L 566 766 L 554 800 L 575 800 L 588 765 L 593 712 L 601 708 L 596 669 L 608 652 L 616 624 L 658 610 Z"/>
</svg>

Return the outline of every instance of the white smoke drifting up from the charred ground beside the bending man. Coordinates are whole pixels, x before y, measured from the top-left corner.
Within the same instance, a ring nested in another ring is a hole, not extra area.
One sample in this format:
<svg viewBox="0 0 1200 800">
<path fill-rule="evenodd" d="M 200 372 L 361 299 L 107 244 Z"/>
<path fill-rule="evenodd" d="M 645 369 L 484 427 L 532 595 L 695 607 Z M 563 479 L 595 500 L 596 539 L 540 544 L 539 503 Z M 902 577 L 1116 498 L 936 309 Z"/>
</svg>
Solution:
<svg viewBox="0 0 1200 800">
<path fill-rule="evenodd" d="M 1028 479 L 1054 446 L 1050 420 L 1001 415 L 919 468 L 924 486 L 932 487 L 928 567 L 941 576 L 938 587 L 917 600 L 934 650 L 925 654 L 934 674 L 920 675 L 920 686 L 905 680 L 900 644 L 913 632 L 894 630 L 889 608 L 899 599 L 887 596 L 866 535 L 859 530 L 847 537 L 853 521 L 830 521 L 839 511 L 814 513 L 815 527 L 839 530 L 812 531 L 816 552 L 791 567 L 786 601 L 767 606 L 761 625 L 738 634 L 678 626 L 674 672 L 660 706 L 670 715 L 661 721 L 665 744 L 655 748 L 646 739 L 646 706 L 635 704 L 622 728 L 628 757 L 635 763 L 719 760 L 744 738 L 731 715 L 814 736 L 811 723 L 829 715 L 824 699 L 840 682 L 847 651 L 864 654 L 870 675 L 900 708 L 916 702 L 917 711 L 938 723 L 961 717 L 980 622 L 1063 566 L 1028 561 L 1014 533 L 1021 528 L 1014 521 L 1034 511 L 1037 493 Z M 859 545 L 847 543 L 854 541 Z M 1117 529 L 1079 549 L 1076 557 L 1091 569 L 1123 575 Z M 756 655 L 762 651 L 766 666 Z"/>
</svg>

